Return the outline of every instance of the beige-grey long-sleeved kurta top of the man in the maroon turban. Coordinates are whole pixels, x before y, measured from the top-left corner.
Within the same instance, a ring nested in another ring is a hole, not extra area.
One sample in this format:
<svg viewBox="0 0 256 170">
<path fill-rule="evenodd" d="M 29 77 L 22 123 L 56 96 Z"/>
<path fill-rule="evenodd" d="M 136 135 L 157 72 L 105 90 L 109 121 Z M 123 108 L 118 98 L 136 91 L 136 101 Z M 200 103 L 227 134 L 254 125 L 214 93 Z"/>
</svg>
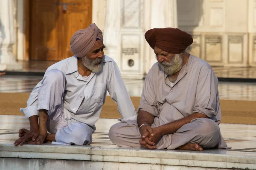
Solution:
<svg viewBox="0 0 256 170">
<path fill-rule="evenodd" d="M 211 66 L 190 55 L 173 87 L 168 75 L 155 63 L 145 79 L 137 112 L 147 111 L 159 119 L 157 125 L 174 122 L 192 113 L 202 113 L 221 122 L 218 79 Z"/>
</svg>

